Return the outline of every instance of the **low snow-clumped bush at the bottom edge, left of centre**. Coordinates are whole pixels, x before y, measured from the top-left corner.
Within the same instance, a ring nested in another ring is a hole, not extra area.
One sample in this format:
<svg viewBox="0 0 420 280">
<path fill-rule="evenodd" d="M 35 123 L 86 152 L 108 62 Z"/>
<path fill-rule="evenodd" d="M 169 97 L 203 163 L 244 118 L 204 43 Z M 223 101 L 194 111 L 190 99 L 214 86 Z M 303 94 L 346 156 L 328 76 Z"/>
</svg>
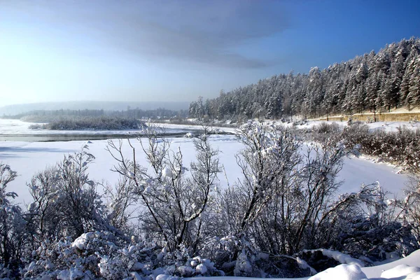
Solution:
<svg viewBox="0 0 420 280">
<path fill-rule="evenodd" d="M 25 278 L 57 279 L 148 276 L 158 263 L 157 251 L 153 245 L 120 239 L 112 232 L 86 232 L 76 239 L 45 239 L 21 273 Z"/>
</svg>

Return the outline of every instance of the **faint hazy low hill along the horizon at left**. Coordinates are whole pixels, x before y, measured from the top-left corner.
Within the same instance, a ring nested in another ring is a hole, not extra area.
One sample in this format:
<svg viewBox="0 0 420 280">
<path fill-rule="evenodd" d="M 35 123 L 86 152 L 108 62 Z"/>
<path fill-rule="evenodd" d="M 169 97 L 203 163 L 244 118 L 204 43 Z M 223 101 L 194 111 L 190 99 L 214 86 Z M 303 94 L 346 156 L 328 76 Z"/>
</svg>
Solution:
<svg viewBox="0 0 420 280">
<path fill-rule="evenodd" d="M 17 115 L 36 110 L 101 110 L 121 111 L 130 109 L 153 110 L 164 108 L 168 110 L 188 110 L 189 102 L 41 102 L 31 104 L 13 104 L 0 107 L 0 115 Z"/>
</svg>

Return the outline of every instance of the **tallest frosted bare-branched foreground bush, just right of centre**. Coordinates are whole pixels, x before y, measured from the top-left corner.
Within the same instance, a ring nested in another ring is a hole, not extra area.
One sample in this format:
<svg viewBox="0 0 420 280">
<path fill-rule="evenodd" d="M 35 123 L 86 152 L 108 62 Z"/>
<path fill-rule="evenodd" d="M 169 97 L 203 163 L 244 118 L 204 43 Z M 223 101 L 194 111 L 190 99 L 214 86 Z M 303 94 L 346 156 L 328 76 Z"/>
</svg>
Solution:
<svg viewBox="0 0 420 280">
<path fill-rule="evenodd" d="M 250 122 L 237 135 L 245 147 L 237 156 L 244 178 L 218 200 L 219 228 L 232 237 L 223 240 L 228 248 L 225 253 L 217 251 L 214 260 L 218 265 L 222 260 L 235 267 L 255 265 L 262 274 L 290 274 L 286 266 L 272 268 L 286 262 L 279 255 L 290 256 L 323 244 L 323 232 L 335 210 L 331 208 L 339 186 L 335 176 L 343 158 L 356 151 L 341 142 L 327 141 L 312 144 L 302 155 L 302 144 L 293 130 L 275 125 Z M 250 255 L 253 251 L 257 253 Z M 267 258 L 278 263 L 272 261 L 269 267 L 258 262 L 258 252 L 268 253 Z M 297 260 L 292 263 L 297 265 Z M 234 273 L 246 275 L 245 271 L 241 268 Z"/>
</svg>

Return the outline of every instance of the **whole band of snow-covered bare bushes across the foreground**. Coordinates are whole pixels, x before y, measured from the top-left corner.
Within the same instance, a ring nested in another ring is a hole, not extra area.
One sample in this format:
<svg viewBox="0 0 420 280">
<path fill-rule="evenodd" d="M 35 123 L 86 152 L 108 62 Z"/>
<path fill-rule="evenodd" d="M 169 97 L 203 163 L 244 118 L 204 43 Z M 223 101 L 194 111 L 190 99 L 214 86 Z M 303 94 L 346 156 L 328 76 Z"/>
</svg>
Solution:
<svg viewBox="0 0 420 280">
<path fill-rule="evenodd" d="M 293 128 L 248 122 L 237 131 L 241 178 L 218 188 L 219 152 L 209 145 L 207 127 L 193 140 L 189 167 L 182 151 L 172 152 L 146 127 L 146 141 L 109 141 L 121 176 L 116 186 L 104 186 L 105 195 L 89 179 L 94 157 L 84 146 L 32 178 L 27 211 L 6 191 L 16 173 L 0 164 L 0 276 L 301 277 L 419 248 L 419 178 L 405 200 L 389 199 L 379 184 L 337 198 L 343 159 L 358 151 L 335 137 L 334 127 L 324 130 L 321 142 L 304 144 Z M 371 137 L 358 123 L 343 132 L 349 133 Z M 412 134 L 397 135 L 412 141 Z M 139 150 L 148 167 L 138 164 Z"/>
</svg>

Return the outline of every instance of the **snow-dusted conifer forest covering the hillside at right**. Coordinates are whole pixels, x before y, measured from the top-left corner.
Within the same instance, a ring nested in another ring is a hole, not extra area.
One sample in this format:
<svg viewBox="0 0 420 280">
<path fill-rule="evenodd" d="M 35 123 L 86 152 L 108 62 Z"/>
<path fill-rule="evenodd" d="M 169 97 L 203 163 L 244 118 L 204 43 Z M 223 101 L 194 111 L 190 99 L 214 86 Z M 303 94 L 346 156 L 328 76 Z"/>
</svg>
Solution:
<svg viewBox="0 0 420 280">
<path fill-rule="evenodd" d="M 240 120 L 389 111 L 420 105 L 420 39 L 410 38 L 309 73 L 280 74 L 190 104 L 191 117 Z"/>
</svg>

